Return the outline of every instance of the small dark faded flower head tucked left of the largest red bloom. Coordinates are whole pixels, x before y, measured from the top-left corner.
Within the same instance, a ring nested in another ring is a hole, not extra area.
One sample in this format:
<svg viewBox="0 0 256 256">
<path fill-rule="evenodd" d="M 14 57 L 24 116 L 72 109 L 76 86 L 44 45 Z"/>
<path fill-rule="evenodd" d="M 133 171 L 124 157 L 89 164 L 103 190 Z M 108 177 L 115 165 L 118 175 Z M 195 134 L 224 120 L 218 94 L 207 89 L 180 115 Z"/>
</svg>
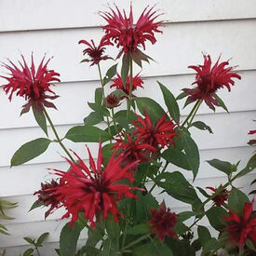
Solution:
<svg viewBox="0 0 256 256">
<path fill-rule="evenodd" d="M 59 186 L 58 182 L 52 180 L 50 183 L 41 183 L 41 189 L 34 192 L 34 195 L 38 195 L 36 203 L 43 203 L 46 207 L 50 206 L 45 214 L 45 218 L 53 212 L 53 209 L 58 209 L 61 205 L 61 196 L 55 195 L 55 189 Z"/>
</svg>

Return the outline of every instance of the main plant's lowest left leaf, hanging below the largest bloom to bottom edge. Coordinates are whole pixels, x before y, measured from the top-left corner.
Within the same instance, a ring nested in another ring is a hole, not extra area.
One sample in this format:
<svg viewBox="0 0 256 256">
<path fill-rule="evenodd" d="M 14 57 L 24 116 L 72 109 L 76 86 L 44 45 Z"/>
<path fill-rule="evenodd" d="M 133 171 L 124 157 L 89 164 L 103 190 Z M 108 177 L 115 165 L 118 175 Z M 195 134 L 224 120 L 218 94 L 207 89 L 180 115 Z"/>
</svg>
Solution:
<svg viewBox="0 0 256 256">
<path fill-rule="evenodd" d="M 85 223 L 81 220 L 74 222 L 74 227 L 70 227 L 70 223 L 64 225 L 60 236 L 61 256 L 71 256 L 75 254 L 77 240 L 84 227 Z"/>
</svg>

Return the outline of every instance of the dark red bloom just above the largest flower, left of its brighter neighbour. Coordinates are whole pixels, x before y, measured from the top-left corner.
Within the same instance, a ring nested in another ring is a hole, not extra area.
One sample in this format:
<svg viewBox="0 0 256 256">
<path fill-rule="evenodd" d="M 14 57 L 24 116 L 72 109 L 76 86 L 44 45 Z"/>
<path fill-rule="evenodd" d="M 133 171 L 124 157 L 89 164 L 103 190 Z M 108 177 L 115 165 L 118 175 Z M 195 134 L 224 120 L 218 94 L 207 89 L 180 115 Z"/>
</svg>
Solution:
<svg viewBox="0 0 256 256">
<path fill-rule="evenodd" d="M 131 138 L 128 134 L 128 140 L 123 141 L 121 139 L 116 139 L 116 143 L 113 149 L 122 150 L 121 155 L 124 155 L 123 164 L 128 165 L 134 161 L 140 161 L 140 163 L 145 163 L 149 160 L 150 155 L 155 153 L 155 148 L 148 143 L 143 143 L 139 138 Z"/>
</svg>

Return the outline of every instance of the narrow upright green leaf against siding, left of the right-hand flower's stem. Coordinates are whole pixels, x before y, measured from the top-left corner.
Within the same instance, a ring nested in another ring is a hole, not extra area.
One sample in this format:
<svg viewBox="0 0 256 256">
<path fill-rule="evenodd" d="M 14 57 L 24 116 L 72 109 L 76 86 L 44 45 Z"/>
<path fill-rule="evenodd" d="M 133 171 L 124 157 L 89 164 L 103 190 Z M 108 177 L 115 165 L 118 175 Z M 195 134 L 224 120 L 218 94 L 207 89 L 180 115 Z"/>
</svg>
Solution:
<svg viewBox="0 0 256 256">
<path fill-rule="evenodd" d="M 166 88 L 163 84 L 161 84 L 158 81 L 157 81 L 157 83 L 162 90 L 165 103 L 168 107 L 168 114 L 174 121 L 176 121 L 179 124 L 180 123 L 180 109 L 179 109 L 179 105 L 178 105 L 177 101 L 175 100 L 175 97 L 168 90 L 168 88 Z"/>
</svg>

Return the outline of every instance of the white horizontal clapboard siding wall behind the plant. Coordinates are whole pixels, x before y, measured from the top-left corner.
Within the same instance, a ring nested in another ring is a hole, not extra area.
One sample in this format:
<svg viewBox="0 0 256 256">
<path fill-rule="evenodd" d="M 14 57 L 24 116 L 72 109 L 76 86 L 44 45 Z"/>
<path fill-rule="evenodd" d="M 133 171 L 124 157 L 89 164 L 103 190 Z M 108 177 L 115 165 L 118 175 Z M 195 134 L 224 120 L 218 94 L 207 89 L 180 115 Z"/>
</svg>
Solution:
<svg viewBox="0 0 256 256">
<path fill-rule="evenodd" d="M 129 1 L 115 1 L 120 7 L 127 7 Z M 141 13 L 147 4 L 156 1 L 132 1 L 135 16 Z M 168 86 L 175 95 L 180 89 L 187 88 L 194 81 L 190 64 L 202 62 L 201 52 L 210 53 L 216 60 L 222 53 L 222 60 L 233 58 L 231 65 L 238 64 L 242 80 L 229 93 L 222 89 L 219 95 L 225 101 L 230 115 L 219 109 L 212 113 L 203 106 L 198 119 L 204 121 L 214 134 L 194 131 L 201 153 L 201 168 L 196 185 L 214 186 L 225 182 L 221 172 L 210 168 L 205 160 L 220 158 L 236 162 L 241 159 L 244 165 L 253 149 L 247 145 L 249 129 L 255 128 L 252 119 L 256 118 L 256 1 L 238 0 L 159 0 L 160 9 L 168 20 L 163 28 L 164 34 L 157 35 L 155 46 L 147 45 L 147 54 L 157 62 L 144 65 L 141 73 L 145 81 L 145 89 L 139 89 L 137 95 L 151 96 L 163 102 L 156 80 Z M 47 52 L 54 56 L 50 67 L 61 73 L 61 83 L 56 85 L 56 100 L 59 111 L 49 111 L 54 123 L 62 135 L 68 128 L 81 124 L 88 115 L 87 101 L 93 99 L 93 91 L 99 87 L 97 70 L 87 64 L 79 64 L 82 60 L 80 39 L 101 38 L 104 21 L 97 15 L 98 10 L 105 10 L 107 1 L 68 1 L 68 0 L 1 0 L 0 1 L 0 61 L 6 58 L 12 61 L 20 59 L 20 52 L 28 59 L 34 51 L 39 60 Z M 110 52 L 114 52 L 111 50 Z M 111 65 L 104 61 L 103 70 Z M 0 67 L 0 73 L 4 70 Z M 4 80 L 0 80 L 0 85 Z M 50 232 L 48 248 L 58 241 L 61 226 L 61 212 L 51 215 L 44 221 L 45 209 L 30 209 L 35 197 L 33 193 L 40 182 L 50 179 L 46 168 L 67 168 L 62 161 L 63 155 L 58 145 L 50 145 L 46 154 L 31 162 L 9 168 L 13 153 L 26 141 L 43 137 L 43 132 L 36 127 L 33 115 L 20 115 L 22 99 L 14 99 L 11 103 L 0 91 L 1 126 L 0 126 L 0 197 L 19 202 L 19 208 L 8 213 L 15 217 L 5 221 L 12 236 L 0 235 L 0 247 L 7 248 L 7 255 L 22 252 L 21 246 L 26 242 L 23 236 L 38 236 Z M 187 115 L 189 108 L 182 111 Z M 87 158 L 84 144 L 65 141 L 68 147 Z M 91 145 L 93 152 L 97 148 Z M 186 177 L 190 174 L 184 172 Z M 237 182 L 245 191 L 249 191 L 249 182 L 256 175 L 250 174 Z M 182 211 L 186 205 L 176 200 L 168 200 L 172 209 Z M 57 245 L 58 246 L 58 245 Z M 47 249 L 42 255 L 49 255 Z"/>
</svg>

